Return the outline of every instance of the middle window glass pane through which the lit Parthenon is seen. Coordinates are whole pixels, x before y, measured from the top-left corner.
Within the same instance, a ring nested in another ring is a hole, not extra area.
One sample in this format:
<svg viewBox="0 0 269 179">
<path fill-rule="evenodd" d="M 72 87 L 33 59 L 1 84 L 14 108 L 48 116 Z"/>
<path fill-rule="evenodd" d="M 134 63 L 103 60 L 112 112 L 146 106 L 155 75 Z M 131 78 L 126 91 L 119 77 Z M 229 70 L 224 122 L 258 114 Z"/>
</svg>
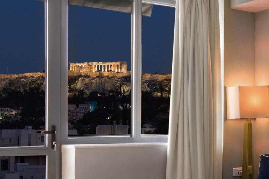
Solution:
<svg viewBox="0 0 269 179">
<path fill-rule="evenodd" d="M 130 134 L 131 14 L 116 9 L 69 4 L 68 136 Z"/>
</svg>

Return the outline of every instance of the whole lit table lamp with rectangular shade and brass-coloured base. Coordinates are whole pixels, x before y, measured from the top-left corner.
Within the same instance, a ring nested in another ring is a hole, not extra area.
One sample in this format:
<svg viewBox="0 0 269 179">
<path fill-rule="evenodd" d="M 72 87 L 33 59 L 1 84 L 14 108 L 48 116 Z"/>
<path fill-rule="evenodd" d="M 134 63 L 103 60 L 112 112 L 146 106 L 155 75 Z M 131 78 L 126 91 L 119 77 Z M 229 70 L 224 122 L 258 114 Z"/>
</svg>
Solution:
<svg viewBox="0 0 269 179">
<path fill-rule="evenodd" d="M 249 178 L 252 178 L 252 123 L 250 119 L 269 117 L 269 88 L 265 86 L 227 87 L 226 95 L 227 119 L 246 119 L 242 178 L 247 177 L 247 171 L 250 171 Z"/>
</svg>

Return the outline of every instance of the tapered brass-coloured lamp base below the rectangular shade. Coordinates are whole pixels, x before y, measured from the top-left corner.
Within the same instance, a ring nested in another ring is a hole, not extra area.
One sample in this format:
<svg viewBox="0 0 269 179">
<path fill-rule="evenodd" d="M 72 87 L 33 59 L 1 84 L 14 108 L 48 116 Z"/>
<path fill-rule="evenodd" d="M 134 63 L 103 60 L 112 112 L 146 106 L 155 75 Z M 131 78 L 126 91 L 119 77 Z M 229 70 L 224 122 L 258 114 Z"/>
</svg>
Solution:
<svg viewBox="0 0 269 179">
<path fill-rule="evenodd" d="M 242 179 L 252 179 L 252 123 L 250 118 L 244 126 Z"/>
</svg>

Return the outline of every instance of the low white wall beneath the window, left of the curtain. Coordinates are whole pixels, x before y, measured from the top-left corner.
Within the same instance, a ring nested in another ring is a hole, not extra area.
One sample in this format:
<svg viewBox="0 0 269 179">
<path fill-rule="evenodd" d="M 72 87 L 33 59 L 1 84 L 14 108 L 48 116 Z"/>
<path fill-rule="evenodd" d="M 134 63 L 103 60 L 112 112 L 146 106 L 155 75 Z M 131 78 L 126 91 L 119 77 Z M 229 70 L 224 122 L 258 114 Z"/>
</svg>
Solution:
<svg viewBox="0 0 269 179">
<path fill-rule="evenodd" d="M 62 179 L 164 179 L 167 143 L 62 145 Z"/>
</svg>

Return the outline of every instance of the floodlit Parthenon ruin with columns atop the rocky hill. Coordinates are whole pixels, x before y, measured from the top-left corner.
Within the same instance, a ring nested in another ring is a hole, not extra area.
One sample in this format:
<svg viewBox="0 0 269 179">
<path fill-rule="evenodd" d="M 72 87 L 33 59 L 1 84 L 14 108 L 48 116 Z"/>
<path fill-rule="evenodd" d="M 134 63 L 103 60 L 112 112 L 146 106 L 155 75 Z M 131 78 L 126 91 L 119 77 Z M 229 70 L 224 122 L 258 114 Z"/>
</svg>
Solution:
<svg viewBox="0 0 269 179">
<path fill-rule="evenodd" d="M 114 71 L 126 73 L 127 63 L 125 61 L 70 63 L 70 70 L 80 70 L 80 72 Z"/>
</svg>

